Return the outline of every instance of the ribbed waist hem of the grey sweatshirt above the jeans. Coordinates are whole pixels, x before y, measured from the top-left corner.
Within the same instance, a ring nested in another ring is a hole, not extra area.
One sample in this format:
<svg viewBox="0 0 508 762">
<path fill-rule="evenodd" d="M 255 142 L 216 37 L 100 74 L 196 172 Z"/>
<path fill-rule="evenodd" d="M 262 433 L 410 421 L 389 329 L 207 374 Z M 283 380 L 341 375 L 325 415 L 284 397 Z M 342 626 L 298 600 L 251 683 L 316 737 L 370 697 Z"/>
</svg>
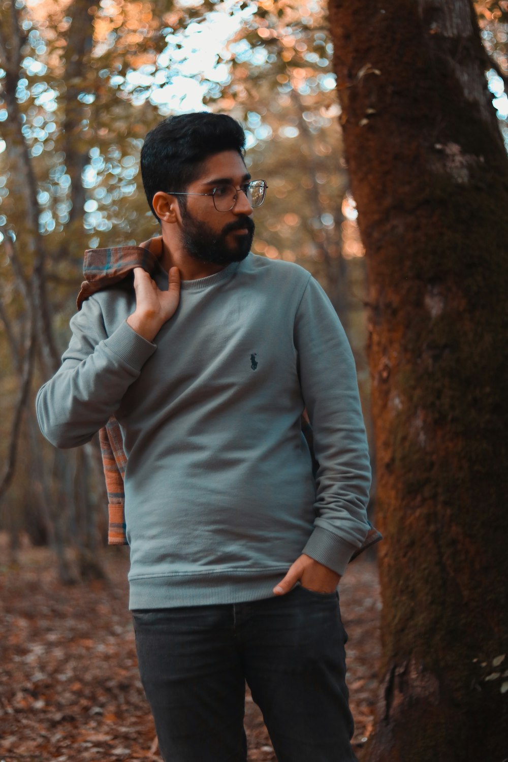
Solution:
<svg viewBox="0 0 508 762">
<path fill-rule="evenodd" d="M 273 597 L 287 566 L 129 578 L 129 609 L 243 604 Z"/>
</svg>

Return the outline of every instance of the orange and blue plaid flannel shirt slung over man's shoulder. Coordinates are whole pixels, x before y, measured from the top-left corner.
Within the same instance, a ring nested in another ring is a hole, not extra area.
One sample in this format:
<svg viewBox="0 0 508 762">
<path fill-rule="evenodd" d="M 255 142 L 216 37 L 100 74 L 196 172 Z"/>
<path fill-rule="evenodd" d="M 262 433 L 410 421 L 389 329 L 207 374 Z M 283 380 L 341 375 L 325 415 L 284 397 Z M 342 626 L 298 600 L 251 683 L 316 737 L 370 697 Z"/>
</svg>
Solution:
<svg viewBox="0 0 508 762">
<path fill-rule="evenodd" d="M 83 276 L 78 293 L 77 306 L 81 309 L 82 303 L 88 296 L 104 288 L 119 283 L 129 275 L 134 267 L 142 267 L 143 270 L 153 275 L 158 259 L 142 246 L 116 246 L 114 248 L 90 248 L 85 251 L 83 263 Z M 318 470 L 318 462 L 314 454 L 314 442 L 312 427 L 308 422 L 306 411 L 301 419 L 302 432 L 307 440 L 312 455 L 312 470 L 314 475 Z M 125 523 L 125 494 L 123 491 L 123 477 L 125 474 L 127 456 L 123 450 L 123 437 L 120 424 L 112 416 L 106 426 L 99 431 L 101 442 L 101 455 L 106 479 L 107 503 L 109 515 L 109 527 L 107 534 L 108 545 L 128 545 Z M 381 533 L 369 523 L 369 532 L 363 544 L 356 549 L 350 561 L 382 539 Z"/>
</svg>

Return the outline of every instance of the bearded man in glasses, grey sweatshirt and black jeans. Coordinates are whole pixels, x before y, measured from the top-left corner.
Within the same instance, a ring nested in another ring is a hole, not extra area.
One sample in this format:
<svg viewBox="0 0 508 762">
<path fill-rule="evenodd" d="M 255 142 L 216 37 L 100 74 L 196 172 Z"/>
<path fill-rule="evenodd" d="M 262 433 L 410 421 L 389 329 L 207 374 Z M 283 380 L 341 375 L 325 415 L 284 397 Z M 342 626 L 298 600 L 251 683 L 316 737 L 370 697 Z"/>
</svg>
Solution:
<svg viewBox="0 0 508 762">
<path fill-rule="evenodd" d="M 356 371 L 318 283 L 250 253 L 266 187 L 244 142 L 223 114 L 148 134 L 158 269 L 85 301 L 37 415 L 57 447 L 120 423 L 129 608 L 166 762 L 244 762 L 245 680 L 280 762 L 350 762 L 337 584 L 370 485 Z"/>
</svg>

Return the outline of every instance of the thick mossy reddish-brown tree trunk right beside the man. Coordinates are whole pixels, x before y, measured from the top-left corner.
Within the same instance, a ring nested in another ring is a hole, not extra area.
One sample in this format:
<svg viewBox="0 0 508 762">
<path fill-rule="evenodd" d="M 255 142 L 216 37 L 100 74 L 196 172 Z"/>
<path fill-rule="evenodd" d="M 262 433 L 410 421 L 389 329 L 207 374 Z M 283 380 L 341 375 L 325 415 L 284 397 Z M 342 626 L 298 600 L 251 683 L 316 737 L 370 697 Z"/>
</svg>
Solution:
<svg viewBox="0 0 508 762">
<path fill-rule="evenodd" d="M 382 690 L 368 762 L 507 756 L 508 160 L 468 0 L 330 0 L 369 275 Z"/>
</svg>

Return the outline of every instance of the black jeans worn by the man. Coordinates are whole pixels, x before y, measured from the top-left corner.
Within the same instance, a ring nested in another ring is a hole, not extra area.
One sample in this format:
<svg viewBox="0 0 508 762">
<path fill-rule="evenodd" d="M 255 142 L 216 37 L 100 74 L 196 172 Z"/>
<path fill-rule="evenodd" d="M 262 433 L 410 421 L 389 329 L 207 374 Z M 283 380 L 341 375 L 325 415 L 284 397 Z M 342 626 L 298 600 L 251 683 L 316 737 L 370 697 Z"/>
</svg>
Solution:
<svg viewBox="0 0 508 762">
<path fill-rule="evenodd" d="M 356 762 L 338 594 L 133 611 L 165 762 L 245 762 L 247 680 L 279 762 Z"/>
</svg>

